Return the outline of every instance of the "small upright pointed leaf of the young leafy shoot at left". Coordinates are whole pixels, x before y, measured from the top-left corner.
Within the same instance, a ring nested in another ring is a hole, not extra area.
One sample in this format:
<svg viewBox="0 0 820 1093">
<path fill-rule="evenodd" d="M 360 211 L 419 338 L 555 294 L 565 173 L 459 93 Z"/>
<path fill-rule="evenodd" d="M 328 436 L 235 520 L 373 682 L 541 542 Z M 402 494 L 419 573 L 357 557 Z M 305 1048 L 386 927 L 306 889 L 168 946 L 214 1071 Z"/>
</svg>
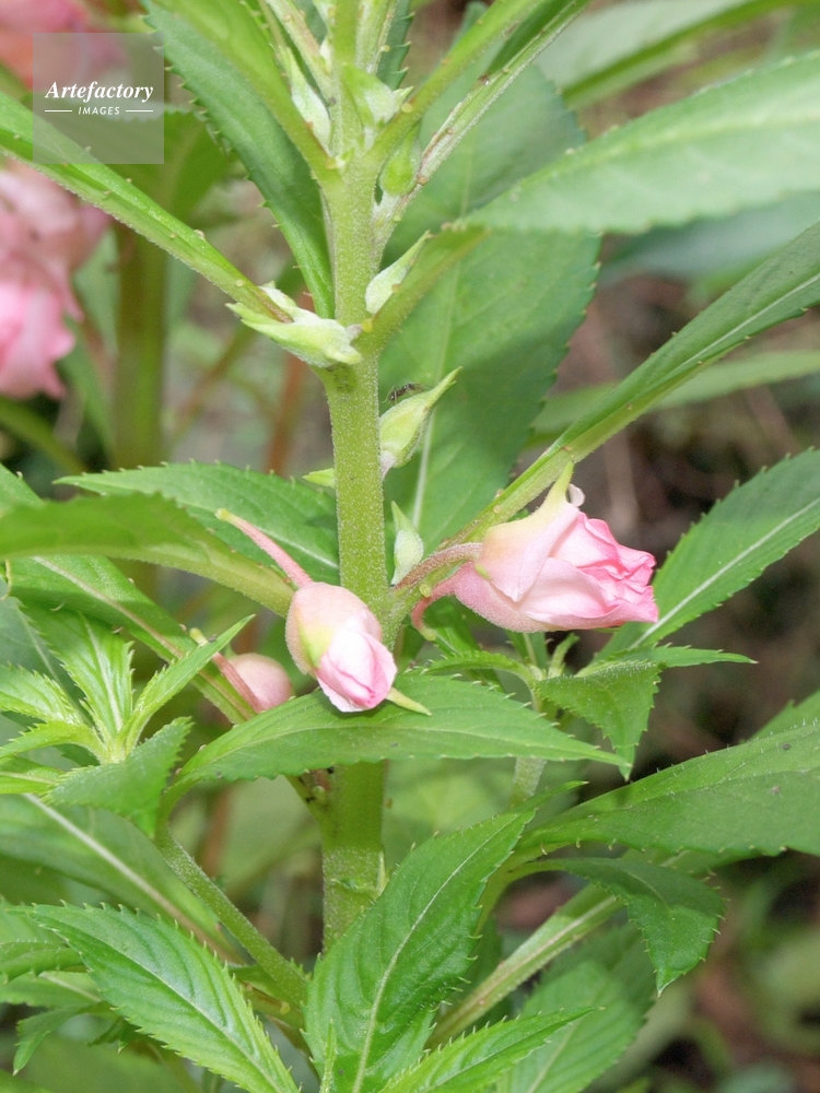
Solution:
<svg viewBox="0 0 820 1093">
<path fill-rule="evenodd" d="M 74 611 L 35 609 L 28 614 L 82 691 L 83 704 L 103 739 L 114 739 L 132 712 L 131 646 L 112 633 L 110 626 Z"/>
</svg>

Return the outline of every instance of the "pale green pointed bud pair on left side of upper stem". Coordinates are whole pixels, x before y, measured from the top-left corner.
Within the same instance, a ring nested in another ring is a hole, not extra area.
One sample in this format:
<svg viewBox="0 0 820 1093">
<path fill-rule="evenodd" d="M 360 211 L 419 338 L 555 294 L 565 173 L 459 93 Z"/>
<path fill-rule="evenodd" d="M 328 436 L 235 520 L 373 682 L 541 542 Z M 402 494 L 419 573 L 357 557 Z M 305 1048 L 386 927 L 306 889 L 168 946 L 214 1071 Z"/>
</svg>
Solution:
<svg viewBox="0 0 820 1093">
<path fill-rule="evenodd" d="M 298 307 L 272 283 L 262 285 L 262 290 L 278 307 L 292 317 L 293 322 L 278 322 L 269 315 L 253 312 L 243 304 L 229 304 L 245 326 L 283 345 L 314 368 L 358 364 L 362 360 L 361 353 L 351 343 L 350 333 L 336 319 L 323 319 L 313 312 Z"/>
</svg>

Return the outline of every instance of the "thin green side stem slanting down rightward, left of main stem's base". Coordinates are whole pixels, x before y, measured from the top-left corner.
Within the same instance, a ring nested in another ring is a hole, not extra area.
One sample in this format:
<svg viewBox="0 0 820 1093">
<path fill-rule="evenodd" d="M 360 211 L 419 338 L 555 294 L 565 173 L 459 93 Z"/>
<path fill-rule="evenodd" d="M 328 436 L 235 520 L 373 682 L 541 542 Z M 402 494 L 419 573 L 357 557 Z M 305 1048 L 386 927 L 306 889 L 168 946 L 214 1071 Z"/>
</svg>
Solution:
<svg viewBox="0 0 820 1093">
<path fill-rule="evenodd" d="M 241 945 L 254 957 L 273 984 L 281 1001 L 298 1010 L 306 995 L 305 975 L 300 967 L 288 961 L 249 922 L 242 912 L 231 903 L 171 834 L 167 818 L 157 824 L 156 847 L 177 877 L 195 895 L 216 915 L 222 925 L 231 931 Z"/>
</svg>

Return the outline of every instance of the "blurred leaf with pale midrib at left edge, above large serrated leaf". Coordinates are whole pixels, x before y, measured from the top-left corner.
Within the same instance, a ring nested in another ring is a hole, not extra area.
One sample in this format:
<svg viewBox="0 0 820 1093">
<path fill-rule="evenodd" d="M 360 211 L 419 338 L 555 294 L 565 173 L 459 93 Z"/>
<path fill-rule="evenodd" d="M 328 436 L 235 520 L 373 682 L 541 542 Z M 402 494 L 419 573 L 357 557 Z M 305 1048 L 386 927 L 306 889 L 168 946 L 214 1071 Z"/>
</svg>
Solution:
<svg viewBox="0 0 820 1093">
<path fill-rule="evenodd" d="M 58 811 L 36 798 L 3 797 L 0 845 L 5 859 L 51 869 L 118 902 L 161 912 L 201 936 L 218 936 L 211 913 L 177 880 L 149 839 L 112 813 Z"/>
</svg>

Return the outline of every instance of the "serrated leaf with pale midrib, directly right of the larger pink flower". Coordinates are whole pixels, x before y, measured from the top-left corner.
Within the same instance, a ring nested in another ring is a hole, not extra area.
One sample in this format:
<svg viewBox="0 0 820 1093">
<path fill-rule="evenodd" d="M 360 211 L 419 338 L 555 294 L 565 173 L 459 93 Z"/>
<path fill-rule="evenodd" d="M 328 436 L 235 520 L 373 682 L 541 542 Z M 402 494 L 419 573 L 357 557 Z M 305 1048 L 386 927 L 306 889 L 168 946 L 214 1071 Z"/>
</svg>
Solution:
<svg viewBox="0 0 820 1093">
<path fill-rule="evenodd" d="M 630 623 L 607 651 L 654 645 L 712 611 L 820 528 L 820 453 L 733 490 L 678 542 L 655 578 L 658 621 Z"/>
</svg>

